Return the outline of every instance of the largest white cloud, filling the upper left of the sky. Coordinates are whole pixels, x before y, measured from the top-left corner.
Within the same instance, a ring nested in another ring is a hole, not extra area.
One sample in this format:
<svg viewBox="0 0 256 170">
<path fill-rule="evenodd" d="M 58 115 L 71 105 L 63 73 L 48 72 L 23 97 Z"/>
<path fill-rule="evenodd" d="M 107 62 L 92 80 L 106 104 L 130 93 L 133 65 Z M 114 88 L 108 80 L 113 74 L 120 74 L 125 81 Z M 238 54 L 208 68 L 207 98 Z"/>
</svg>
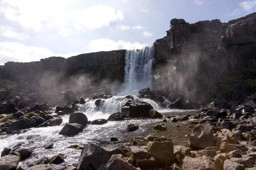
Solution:
<svg viewBox="0 0 256 170">
<path fill-rule="evenodd" d="M 7 19 L 20 23 L 24 28 L 32 28 L 36 32 L 46 28 L 56 28 L 58 34 L 62 36 L 68 36 L 74 30 L 88 31 L 124 20 L 122 11 L 116 11 L 109 6 L 95 5 L 70 9 L 73 2 L 64 2 L 63 0 L 3 0 L 0 11 Z"/>
</svg>

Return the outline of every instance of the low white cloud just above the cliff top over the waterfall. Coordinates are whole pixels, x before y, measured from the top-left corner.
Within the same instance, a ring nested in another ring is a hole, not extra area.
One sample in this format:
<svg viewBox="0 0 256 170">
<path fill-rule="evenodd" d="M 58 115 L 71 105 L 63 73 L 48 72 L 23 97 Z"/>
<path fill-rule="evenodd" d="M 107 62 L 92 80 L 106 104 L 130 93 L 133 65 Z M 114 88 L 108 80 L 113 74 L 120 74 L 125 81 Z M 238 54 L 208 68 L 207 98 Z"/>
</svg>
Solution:
<svg viewBox="0 0 256 170">
<path fill-rule="evenodd" d="M 139 42 L 125 42 L 123 40 L 114 41 L 108 38 L 101 38 L 96 40 L 91 40 L 86 46 L 87 52 L 96 52 L 96 51 L 111 51 L 119 49 L 141 49 L 148 46 L 148 44 L 140 44 Z"/>
</svg>

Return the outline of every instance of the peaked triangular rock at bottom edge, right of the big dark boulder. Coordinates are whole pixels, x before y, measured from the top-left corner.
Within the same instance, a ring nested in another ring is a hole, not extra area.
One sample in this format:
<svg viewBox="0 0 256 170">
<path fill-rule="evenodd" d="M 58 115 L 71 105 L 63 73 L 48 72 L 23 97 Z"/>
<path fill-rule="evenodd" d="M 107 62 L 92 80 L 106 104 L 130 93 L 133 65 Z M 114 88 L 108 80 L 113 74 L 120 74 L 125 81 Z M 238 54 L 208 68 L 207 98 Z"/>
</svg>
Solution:
<svg viewBox="0 0 256 170">
<path fill-rule="evenodd" d="M 80 169 L 79 169 L 80 170 Z M 88 169 L 91 170 L 91 169 Z M 103 170 L 138 170 L 118 155 L 112 155 Z"/>
</svg>

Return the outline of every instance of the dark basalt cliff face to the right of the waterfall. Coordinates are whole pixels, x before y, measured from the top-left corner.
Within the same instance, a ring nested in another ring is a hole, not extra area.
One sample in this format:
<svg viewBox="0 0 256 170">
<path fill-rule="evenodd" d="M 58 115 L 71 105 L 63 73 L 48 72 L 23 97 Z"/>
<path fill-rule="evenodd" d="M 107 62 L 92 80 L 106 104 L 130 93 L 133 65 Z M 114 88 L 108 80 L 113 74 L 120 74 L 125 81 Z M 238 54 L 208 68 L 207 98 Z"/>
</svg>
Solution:
<svg viewBox="0 0 256 170">
<path fill-rule="evenodd" d="M 205 100 L 237 100 L 255 90 L 245 86 L 256 80 L 256 13 L 228 23 L 172 19 L 166 32 L 154 43 L 155 88 Z"/>
</svg>

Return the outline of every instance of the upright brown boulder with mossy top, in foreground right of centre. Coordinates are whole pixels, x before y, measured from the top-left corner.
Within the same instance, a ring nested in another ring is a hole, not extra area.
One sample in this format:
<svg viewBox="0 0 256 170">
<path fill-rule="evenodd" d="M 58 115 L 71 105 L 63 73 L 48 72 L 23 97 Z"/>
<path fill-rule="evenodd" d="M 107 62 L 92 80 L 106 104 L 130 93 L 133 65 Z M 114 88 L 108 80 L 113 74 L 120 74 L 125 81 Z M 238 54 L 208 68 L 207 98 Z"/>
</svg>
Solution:
<svg viewBox="0 0 256 170">
<path fill-rule="evenodd" d="M 149 150 L 151 156 L 157 161 L 157 164 L 172 165 L 174 163 L 174 148 L 172 141 L 165 137 L 156 138 L 151 143 Z"/>
</svg>

